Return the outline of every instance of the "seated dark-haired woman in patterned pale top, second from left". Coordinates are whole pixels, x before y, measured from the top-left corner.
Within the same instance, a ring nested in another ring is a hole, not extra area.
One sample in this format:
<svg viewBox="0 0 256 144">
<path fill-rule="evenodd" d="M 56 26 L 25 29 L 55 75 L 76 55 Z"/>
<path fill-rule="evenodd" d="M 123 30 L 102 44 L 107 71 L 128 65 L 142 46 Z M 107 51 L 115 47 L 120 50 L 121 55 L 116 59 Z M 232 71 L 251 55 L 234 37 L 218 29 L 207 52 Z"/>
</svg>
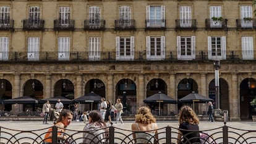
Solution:
<svg viewBox="0 0 256 144">
<path fill-rule="evenodd" d="M 103 144 L 108 142 L 108 128 L 99 111 L 91 111 L 88 124 L 83 128 L 83 143 Z"/>
</svg>

